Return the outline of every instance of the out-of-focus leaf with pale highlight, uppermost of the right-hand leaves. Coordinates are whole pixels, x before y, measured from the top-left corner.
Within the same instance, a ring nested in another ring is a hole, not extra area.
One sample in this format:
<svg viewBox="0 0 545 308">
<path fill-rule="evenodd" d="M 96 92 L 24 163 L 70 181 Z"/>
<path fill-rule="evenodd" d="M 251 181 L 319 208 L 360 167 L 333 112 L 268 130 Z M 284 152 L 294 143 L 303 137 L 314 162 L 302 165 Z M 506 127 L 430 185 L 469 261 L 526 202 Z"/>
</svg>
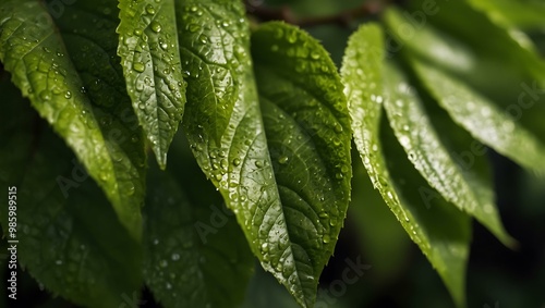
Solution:
<svg viewBox="0 0 545 308">
<path fill-rule="evenodd" d="M 403 30 L 410 20 L 397 10 L 385 12 L 385 21 L 397 39 L 390 46 L 400 46 L 403 56 L 434 64 L 471 85 L 545 144 L 545 104 L 540 103 L 545 61 L 532 48 L 465 1 L 441 3 L 440 11 L 427 16 L 425 24 L 413 25 L 413 32 Z"/>
</svg>

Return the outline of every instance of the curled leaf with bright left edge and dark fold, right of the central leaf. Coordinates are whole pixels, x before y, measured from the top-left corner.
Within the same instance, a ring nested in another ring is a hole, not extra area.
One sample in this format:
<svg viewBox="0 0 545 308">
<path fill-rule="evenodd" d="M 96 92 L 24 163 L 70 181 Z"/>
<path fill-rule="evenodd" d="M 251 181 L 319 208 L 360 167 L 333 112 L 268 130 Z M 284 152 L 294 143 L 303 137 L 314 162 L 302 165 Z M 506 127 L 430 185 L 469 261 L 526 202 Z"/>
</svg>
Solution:
<svg viewBox="0 0 545 308">
<path fill-rule="evenodd" d="M 383 45 L 383 33 L 377 25 L 362 26 L 349 39 L 343 59 L 341 75 L 355 145 L 375 188 L 437 270 L 457 305 L 464 306 L 469 219 L 440 196 L 433 198 L 426 209 L 421 192 L 437 193 L 402 159 L 405 155 L 385 121 L 380 126 Z"/>
</svg>

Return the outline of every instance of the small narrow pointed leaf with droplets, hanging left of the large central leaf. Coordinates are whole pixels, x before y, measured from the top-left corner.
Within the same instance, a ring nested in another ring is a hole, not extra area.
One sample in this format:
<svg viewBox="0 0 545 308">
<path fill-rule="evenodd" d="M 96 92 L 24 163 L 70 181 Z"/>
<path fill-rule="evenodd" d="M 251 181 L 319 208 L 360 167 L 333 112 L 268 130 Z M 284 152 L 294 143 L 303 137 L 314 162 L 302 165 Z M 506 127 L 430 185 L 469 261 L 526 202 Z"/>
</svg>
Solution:
<svg viewBox="0 0 545 308">
<path fill-rule="evenodd" d="M 126 90 L 161 169 L 185 104 L 173 0 L 120 0 L 118 54 Z"/>
</svg>

